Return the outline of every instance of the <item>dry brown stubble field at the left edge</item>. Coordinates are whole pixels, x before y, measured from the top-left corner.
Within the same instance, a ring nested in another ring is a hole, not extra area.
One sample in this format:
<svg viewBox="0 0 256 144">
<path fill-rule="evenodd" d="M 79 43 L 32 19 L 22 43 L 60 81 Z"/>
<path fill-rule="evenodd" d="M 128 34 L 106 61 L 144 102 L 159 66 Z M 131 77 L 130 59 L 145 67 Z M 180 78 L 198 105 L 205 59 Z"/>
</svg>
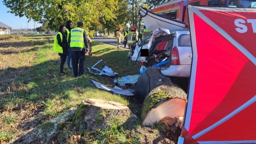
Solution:
<svg viewBox="0 0 256 144">
<path fill-rule="evenodd" d="M 26 67 L 34 65 L 35 49 L 42 47 L 52 38 L 53 36 L 23 37 L 22 35 L 0 37 L 0 96 L 6 90 L 10 93 L 17 89 L 13 85 L 15 76 L 22 73 Z"/>
</svg>

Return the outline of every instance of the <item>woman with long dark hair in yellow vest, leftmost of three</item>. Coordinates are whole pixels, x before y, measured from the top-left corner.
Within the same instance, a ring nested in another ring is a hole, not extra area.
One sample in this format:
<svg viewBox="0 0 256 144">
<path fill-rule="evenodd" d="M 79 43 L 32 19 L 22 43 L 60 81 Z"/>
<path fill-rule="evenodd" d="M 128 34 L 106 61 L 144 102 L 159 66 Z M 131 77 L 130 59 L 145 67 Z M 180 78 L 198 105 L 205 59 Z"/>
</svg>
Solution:
<svg viewBox="0 0 256 144">
<path fill-rule="evenodd" d="M 65 75 L 63 72 L 63 66 L 66 62 L 67 55 L 69 53 L 68 42 L 66 37 L 66 27 L 61 25 L 58 33 L 55 36 L 53 43 L 53 51 L 60 55 L 60 76 Z"/>
</svg>

